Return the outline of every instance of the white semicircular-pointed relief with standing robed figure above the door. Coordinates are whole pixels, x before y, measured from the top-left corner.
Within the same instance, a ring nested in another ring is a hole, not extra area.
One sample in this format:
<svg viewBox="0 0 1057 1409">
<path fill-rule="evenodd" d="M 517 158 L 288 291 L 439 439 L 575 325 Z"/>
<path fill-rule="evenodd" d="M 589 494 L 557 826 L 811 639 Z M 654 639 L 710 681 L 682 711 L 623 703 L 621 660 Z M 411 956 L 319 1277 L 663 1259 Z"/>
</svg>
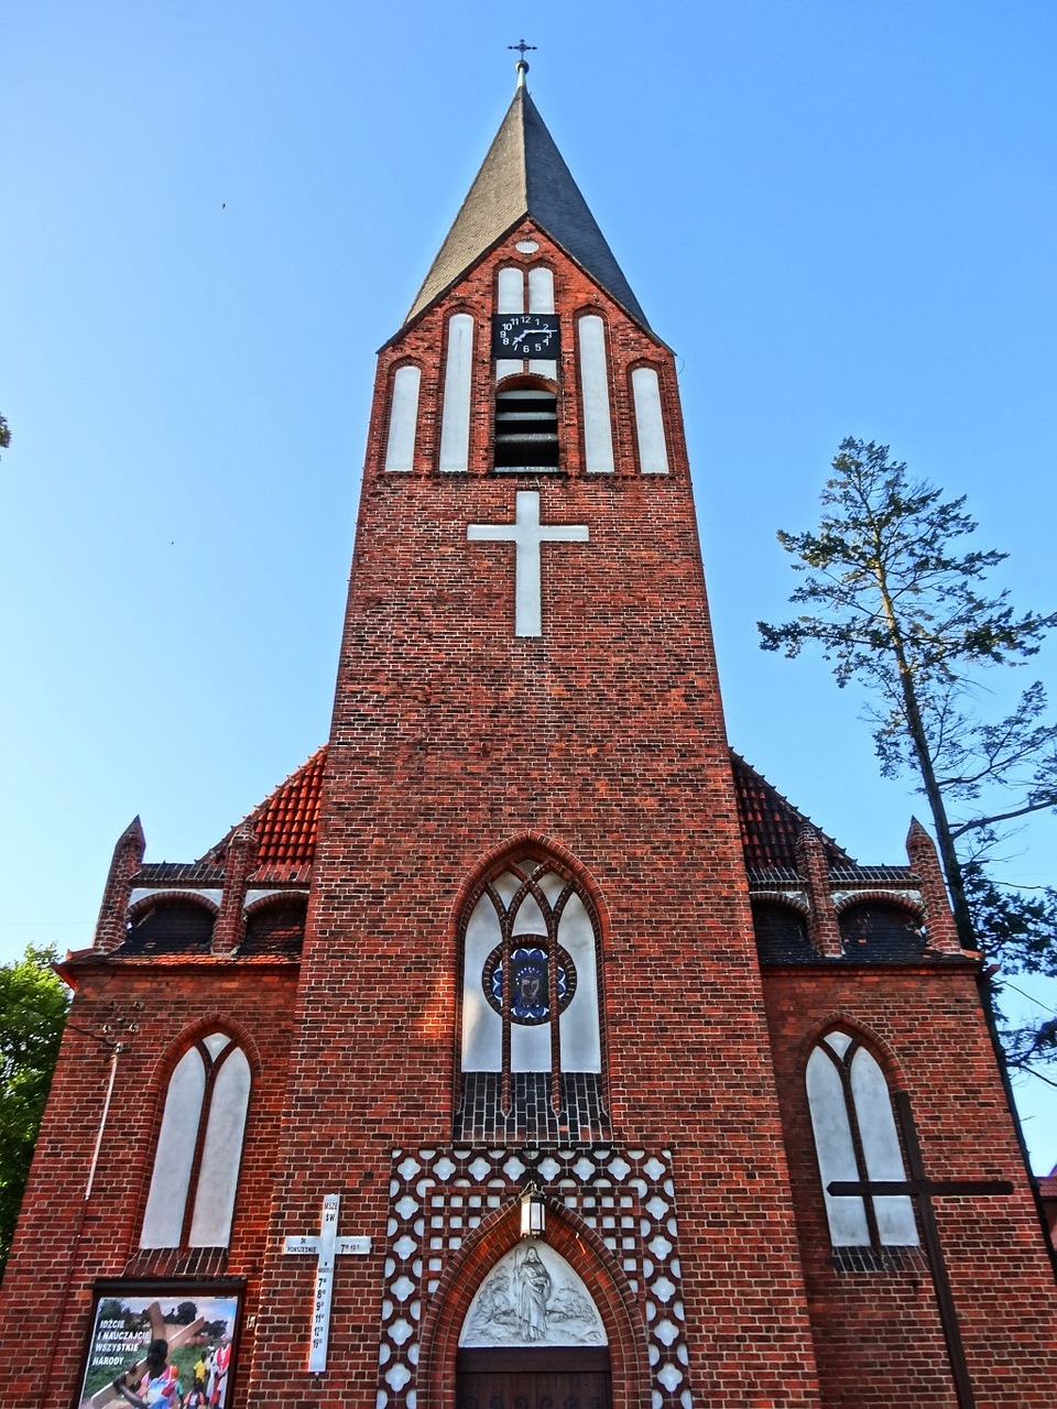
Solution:
<svg viewBox="0 0 1057 1409">
<path fill-rule="evenodd" d="M 591 1292 L 543 1243 L 526 1241 L 500 1258 L 478 1288 L 459 1346 L 605 1346 Z"/>
</svg>

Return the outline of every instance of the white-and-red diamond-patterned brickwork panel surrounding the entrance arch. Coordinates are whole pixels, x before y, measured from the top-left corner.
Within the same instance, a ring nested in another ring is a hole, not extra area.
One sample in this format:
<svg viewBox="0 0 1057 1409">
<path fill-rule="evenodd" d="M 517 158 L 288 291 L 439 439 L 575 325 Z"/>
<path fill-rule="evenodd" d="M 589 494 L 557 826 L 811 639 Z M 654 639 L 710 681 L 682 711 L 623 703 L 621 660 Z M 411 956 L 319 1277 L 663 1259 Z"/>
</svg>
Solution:
<svg viewBox="0 0 1057 1409">
<path fill-rule="evenodd" d="M 671 1154 L 616 1146 L 393 1151 L 376 1409 L 416 1409 L 423 1309 L 464 1246 L 530 1177 L 620 1268 L 648 1340 L 653 1409 L 692 1409 Z"/>
</svg>

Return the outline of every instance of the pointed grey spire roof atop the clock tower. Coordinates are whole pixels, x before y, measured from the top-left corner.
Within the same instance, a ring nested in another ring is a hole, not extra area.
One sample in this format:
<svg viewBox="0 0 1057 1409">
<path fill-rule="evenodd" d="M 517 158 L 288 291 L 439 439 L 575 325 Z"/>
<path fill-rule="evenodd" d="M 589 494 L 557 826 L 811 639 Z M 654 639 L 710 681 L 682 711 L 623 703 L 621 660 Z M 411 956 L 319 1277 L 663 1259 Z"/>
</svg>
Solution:
<svg viewBox="0 0 1057 1409">
<path fill-rule="evenodd" d="M 638 300 L 554 138 L 519 87 L 404 323 L 450 289 L 500 235 L 530 216 L 643 327 Z"/>
</svg>

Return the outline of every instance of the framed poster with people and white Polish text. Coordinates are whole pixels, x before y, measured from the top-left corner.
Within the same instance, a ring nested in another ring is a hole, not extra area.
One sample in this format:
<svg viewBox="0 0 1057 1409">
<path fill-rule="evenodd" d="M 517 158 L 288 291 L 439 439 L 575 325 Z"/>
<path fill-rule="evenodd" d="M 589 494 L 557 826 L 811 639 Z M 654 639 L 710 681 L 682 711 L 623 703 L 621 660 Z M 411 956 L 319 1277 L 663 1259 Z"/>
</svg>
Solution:
<svg viewBox="0 0 1057 1409">
<path fill-rule="evenodd" d="M 78 1409 L 227 1409 L 238 1302 L 179 1285 L 97 1293 Z"/>
</svg>

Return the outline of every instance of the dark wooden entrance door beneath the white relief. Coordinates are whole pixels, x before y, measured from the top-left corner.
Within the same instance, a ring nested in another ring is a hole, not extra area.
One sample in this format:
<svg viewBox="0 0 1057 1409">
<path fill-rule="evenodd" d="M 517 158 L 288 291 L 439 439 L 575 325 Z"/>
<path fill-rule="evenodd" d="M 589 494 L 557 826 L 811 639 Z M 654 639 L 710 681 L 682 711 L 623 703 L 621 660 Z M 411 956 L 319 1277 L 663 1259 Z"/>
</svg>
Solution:
<svg viewBox="0 0 1057 1409">
<path fill-rule="evenodd" d="M 609 1350 L 461 1350 L 455 1409 L 609 1409 Z"/>
</svg>

